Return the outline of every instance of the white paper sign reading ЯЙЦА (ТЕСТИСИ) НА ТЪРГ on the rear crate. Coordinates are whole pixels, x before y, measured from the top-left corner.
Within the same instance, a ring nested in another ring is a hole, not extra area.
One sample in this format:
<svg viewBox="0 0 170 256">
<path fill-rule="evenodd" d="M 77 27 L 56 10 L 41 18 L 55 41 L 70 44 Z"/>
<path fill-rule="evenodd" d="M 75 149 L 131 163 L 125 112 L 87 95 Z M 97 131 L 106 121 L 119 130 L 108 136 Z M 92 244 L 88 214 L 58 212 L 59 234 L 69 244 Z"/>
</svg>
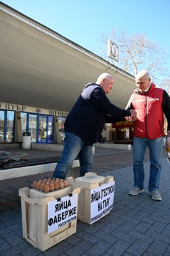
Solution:
<svg viewBox="0 0 170 256">
<path fill-rule="evenodd" d="M 113 208 L 115 180 L 90 192 L 90 223 L 101 219 Z"/>
</svg>

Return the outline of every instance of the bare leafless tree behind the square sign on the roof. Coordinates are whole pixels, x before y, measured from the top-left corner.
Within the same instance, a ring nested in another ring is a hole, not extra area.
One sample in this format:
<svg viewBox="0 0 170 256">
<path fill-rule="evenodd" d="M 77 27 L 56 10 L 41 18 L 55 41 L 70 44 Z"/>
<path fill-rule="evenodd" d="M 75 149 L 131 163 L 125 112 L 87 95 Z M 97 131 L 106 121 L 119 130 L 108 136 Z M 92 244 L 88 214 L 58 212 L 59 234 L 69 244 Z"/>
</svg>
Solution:
<svg viewBox="0 0 170 256">
<path fill-rule="evenodd" d="M 167 86 L 167 83 L 162 83 L 162 81 L 166 81 L 169 77 L 166 68 L 168 57 L 167 52 L 159 45 L 151 42 L 144 34 L 129 36 L 125 31 L 119 35 L 116 30 L 113 30 L 109 36 L 101 36 L 101 42 L 104 45 L 107 45 L 108 39 L 119 47 L 118 67 L 134 76 L 139 70 L 148 70 L 157 85 Z M 107 47 L 101 53 L 101 57 L 108 58 Z"/>
</svg>

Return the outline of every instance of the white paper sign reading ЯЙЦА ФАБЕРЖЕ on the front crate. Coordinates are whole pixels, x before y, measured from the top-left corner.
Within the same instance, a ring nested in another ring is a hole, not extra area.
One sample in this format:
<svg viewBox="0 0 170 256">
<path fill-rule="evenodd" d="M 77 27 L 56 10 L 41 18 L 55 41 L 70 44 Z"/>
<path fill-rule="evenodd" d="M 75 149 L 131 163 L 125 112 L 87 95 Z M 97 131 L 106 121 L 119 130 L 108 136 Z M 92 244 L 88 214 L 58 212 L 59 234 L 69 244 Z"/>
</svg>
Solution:
<svg viewBox="0 0 170 256">
<path fill-rule="evenodd" d="M 60 201 L 48 203 L 48 234 L 63 227 L 77 218 L 78 194 L 64 196 Z"/>
</svg>

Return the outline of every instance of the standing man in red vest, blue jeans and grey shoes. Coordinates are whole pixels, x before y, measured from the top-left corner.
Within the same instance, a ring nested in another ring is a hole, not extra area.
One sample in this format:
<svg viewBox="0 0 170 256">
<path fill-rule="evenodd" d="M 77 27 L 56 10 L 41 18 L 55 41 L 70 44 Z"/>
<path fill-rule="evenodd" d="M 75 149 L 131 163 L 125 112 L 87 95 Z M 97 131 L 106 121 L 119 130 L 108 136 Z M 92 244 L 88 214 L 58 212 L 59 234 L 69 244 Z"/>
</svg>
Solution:
<svg viewBox="0 0 170 256">
<path fill-rule="evenodd" d="M 153 200 L 162 200 L 159 193 L 161 158 L 164 137 L 164 114 L 167 118 L 167 136 L 170 136 L 170 97 L 156 88 L 146 70 L 136 75 L 137 89 L 132 93 L 125 109 L 135 109 L 134 121 L 134 188 L 129 195 L 142 193 L 145 173 L 143 159 L 146 147 L 150 150 L 150 179 L 148 190 Z"/>
</svg>

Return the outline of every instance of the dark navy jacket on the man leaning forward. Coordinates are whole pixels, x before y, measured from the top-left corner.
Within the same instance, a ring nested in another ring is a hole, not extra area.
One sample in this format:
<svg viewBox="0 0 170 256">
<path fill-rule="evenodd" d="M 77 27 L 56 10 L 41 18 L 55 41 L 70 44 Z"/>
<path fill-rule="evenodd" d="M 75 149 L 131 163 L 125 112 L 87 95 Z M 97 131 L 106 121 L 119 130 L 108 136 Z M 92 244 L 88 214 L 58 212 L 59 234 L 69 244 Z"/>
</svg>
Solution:
<svg viewBox="0 0 170 256">
<path fill-rule="evenodd" d="M 92 145 L 101 135 L 104 123 L 125 120 L 125 116 L 131 116 L 131 112 L 111 104 L 99 84 L 87 84 L 69 112 L 64 130 Z"/>
</svg>

